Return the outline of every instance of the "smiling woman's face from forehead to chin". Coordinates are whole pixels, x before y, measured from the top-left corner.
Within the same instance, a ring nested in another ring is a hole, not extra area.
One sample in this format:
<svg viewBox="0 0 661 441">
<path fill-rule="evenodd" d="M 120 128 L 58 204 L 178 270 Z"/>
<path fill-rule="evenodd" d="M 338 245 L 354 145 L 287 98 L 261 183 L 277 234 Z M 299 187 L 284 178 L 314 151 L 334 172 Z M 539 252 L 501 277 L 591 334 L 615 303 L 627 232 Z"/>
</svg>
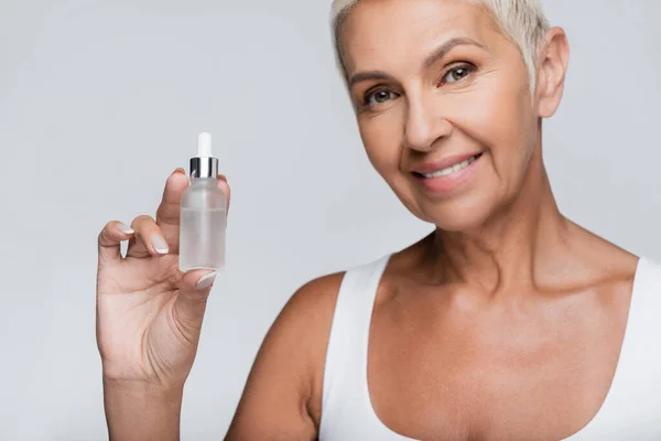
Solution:
<svg viewBox="0 0 661 441">
<path fill-rule="evenodd" d="M 361 0 L 340 44 L 368 157 L 403 204 L 479 228 L 519 193 L 539 115 L 518 47 L 466 1 Z"/>
</svg>

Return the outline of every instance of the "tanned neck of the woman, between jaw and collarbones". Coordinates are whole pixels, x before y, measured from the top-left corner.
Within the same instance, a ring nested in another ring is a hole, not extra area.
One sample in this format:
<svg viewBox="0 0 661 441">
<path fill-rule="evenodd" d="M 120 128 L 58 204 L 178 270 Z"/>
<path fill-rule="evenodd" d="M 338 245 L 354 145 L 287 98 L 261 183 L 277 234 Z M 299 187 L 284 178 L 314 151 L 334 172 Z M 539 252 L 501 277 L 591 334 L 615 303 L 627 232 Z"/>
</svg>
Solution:
<svg viewBox="0 0 661 441">
<path fill-rule="evenodd" d="M 433 256 L 448 282 L 477 284 L 491 294 L 520 292 L 538 286 L 535 275 L 553 266 L 568 225 L 538 148 L 517 197 L 475 230 L 436 229 Z"/>
</svg>

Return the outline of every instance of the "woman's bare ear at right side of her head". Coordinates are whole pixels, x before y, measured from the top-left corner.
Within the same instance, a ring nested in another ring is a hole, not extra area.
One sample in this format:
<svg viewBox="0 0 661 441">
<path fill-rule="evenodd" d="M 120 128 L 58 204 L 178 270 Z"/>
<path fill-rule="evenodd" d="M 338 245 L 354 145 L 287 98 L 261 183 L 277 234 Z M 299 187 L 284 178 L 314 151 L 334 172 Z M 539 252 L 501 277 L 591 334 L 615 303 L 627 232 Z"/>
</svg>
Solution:
<svg viewBox="0 0 661 441">
<path fill-rule="evenodd" d="M 540 118 L 550 118 L 557 110 L 568 61 L 570 44 L 564 30 L 551 28 L 538 58 L 535 96 Z"/>
</svg>

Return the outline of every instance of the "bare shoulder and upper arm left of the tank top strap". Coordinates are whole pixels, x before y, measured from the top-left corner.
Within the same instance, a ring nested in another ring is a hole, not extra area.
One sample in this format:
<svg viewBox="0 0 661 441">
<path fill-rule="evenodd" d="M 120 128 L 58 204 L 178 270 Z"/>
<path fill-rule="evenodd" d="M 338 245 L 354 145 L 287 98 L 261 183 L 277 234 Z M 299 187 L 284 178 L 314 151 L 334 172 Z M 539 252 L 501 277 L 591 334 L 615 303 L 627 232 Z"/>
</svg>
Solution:
<svg viewBox="0 0 661 441">
<path fill-rule="evenodd" d="M 282 309 L 254 359 L 226 441 L 314 440 L 342 273 L 313 280 Z"/>
</svg>

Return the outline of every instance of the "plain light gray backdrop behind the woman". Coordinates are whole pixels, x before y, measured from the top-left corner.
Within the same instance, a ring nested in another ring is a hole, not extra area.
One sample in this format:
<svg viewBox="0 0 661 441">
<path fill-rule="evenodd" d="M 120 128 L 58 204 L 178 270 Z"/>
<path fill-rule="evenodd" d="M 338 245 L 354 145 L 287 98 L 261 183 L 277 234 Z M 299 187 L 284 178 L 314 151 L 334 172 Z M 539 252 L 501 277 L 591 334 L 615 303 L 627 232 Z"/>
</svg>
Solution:
<svg viewBox="0 0 661 441">
<path fill-rule="evenodd" d="M 234 193 L 183 439 L 221 439 L 299 286 L 431 230 L 367 161 L 329 3 L 0 0 L 0 439 L 106 439 L 96 237 L 109 219 L 153 213 L 199 131 Z M 661 2 L 546 9 L 572 44 L 545 131 L 561 208 L 660 259 Z"/>
</svg>

